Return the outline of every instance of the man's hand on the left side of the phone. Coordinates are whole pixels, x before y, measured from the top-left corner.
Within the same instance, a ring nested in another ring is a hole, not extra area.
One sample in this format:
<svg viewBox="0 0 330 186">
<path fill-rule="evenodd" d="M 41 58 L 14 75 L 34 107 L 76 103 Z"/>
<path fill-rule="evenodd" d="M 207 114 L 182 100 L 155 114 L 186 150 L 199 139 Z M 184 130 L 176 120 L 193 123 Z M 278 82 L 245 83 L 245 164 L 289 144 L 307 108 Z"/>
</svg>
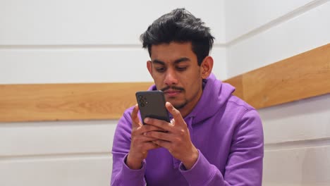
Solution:
<svg viewBox="0 0 330 186">
<path fill-rule="evenodd" d="M 135 105 L 130 117 L 132 118 L 132 134 L 130 142 L 130 151 L 126 159 L 126 165 L 131 169 L 140 169 L 142 161 L 147 158 L 147 153 L 151 149 L 157 149 L 159 146 L 153 141 L 153 137 L 147 137 L 145 132 L 161 130 L 152 125 L 143 125 L 138 118 L 138 104 Z"/>
</svg>

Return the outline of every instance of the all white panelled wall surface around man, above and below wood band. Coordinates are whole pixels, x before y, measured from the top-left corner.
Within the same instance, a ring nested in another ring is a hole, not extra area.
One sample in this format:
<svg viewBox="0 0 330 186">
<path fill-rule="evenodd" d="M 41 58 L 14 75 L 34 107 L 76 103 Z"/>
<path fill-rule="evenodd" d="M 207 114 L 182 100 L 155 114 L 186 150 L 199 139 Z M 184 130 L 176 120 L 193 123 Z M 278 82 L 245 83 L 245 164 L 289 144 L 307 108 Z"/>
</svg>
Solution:
<svg viewBox="0 0 330 186">
<path fill-rule="evenodd" d="M 324 0 L 2 0 L 0 84 L 152 81 L 138 37 L 176 7 L 212 28 L 221 79 L 330 40 Z M 324 95 L 259 111 L 263 185 L 330 185 L 329 105 Z M 0 123 L 0 185 L 109 185 L 115 127 L 116 120 Z"/>
</svg>

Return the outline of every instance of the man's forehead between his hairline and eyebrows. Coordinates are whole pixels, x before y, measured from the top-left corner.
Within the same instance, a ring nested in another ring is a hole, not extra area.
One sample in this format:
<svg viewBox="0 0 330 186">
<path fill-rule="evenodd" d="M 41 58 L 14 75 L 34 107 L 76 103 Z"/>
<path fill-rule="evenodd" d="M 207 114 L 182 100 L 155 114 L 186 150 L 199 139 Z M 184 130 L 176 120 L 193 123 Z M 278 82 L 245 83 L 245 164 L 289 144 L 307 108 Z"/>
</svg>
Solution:
<svg viewBox="0 0 330 186">
<path fill-rule="evenodd" d="M 197 61 L 190 42 L 170 42 L 169 44 L 157 44 L 151 47 L 151 59 L 171 62 L 178 58 L 189 58 L 190 61 Z"/>
</svg>

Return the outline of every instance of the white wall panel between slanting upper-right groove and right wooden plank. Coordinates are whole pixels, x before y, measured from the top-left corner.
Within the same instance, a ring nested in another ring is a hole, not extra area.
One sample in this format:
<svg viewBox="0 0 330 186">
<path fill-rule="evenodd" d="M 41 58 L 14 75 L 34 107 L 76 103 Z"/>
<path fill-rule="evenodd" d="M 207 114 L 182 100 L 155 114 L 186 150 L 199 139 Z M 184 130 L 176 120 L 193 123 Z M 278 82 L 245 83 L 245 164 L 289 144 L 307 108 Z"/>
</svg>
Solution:
<svg viewBox="0 0 330 186">
<path fill-rule="evenodd" d="M 227 49 L 228 77 L 330 42 L 330 3 L 240 41 Z"/>
</svg>

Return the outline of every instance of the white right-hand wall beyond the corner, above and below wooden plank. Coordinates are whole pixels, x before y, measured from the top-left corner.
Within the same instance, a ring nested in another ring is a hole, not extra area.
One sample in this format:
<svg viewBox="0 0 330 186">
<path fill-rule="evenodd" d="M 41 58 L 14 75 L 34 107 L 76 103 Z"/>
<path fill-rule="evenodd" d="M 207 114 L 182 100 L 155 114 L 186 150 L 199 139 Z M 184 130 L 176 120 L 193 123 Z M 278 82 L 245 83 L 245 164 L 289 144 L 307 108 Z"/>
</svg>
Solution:
<svg viewBox="0 0 330 186">
<path fill-rule="evenodd" d="M 330 42 L 330 2 L 226 1 L 233 77 Z M 330 185 L 330 94 L 260 109 L 263 185 Z"/>
</svg>

